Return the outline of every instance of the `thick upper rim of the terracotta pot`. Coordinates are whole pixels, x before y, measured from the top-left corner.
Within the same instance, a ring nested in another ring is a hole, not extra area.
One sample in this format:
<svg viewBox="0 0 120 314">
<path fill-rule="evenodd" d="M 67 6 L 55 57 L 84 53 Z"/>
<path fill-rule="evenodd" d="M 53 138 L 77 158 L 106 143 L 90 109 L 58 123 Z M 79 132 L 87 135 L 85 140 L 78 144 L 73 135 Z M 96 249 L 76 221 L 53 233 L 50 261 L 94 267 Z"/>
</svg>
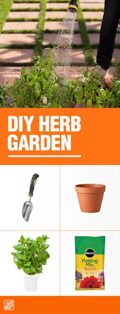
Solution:
<svg viewBox="0 0 120 314">
<path fill-rule="evenodd" d="M 75 191 L 77 193 L 99 194 L 99 193 L 104 193 L 105 189 L 106 189 L 106 185 L 104 184 L 85 183 L 85 184 L 75 185 Z"/>
</svg>

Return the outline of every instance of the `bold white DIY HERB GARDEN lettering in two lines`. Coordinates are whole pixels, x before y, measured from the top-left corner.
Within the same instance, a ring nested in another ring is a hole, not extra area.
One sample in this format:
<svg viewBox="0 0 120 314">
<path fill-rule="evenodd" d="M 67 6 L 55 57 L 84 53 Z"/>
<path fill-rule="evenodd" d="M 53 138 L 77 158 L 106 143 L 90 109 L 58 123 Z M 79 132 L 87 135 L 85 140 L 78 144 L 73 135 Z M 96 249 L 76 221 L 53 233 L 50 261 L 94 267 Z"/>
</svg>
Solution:
<svg viewBox="0 0 120 314">
<path fill-rule="evenodd" d="M 71 151 L 72 132 L 80 130 L 79 116 L 8 116 L 8 150 Z"/>
</svg>

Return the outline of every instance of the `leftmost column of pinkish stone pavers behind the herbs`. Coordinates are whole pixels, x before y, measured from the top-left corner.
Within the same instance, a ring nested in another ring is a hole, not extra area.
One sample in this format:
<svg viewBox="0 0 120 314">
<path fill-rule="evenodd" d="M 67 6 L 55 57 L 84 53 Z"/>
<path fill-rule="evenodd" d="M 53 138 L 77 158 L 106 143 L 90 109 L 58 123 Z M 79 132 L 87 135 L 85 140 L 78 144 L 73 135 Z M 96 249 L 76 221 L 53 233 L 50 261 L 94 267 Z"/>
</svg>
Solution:
<svg viewBox="0 0 120 314">
<path fill-rule="evenodd" d="M 17 64 L 29 64 L 33 61 L 39 14 L 40 3 L 13 3 L 11 11 L 8 15 L 8 20 L 6 21 L 3 32 L 0 35 L 1 65 L 11 64 L 12 66 L 15 64 L 17 66 Z M 8 71 L 8 67 L 5 68 L 3 66 L 4 76 L 5 69 Z M 15 75 L 13 75 L 12 68 L 10 69 L 11 75 L 15 77 Z M 18 68 L 16 71 L 15 73 L 18 75 Z M 3 78 L 1 77 L 0 81 L 3 81 Z"/>
</svg>

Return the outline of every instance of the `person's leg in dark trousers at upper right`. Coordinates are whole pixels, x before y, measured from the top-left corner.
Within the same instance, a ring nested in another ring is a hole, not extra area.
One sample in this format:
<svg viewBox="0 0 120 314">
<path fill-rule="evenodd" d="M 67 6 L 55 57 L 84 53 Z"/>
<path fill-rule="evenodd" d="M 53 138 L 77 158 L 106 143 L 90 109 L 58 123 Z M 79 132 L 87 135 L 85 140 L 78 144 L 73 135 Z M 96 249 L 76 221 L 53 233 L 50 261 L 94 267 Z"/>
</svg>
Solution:
<svg viewBox="0 0 120 314">
<path fill-rule="evenodd" d="M 100 43 L 97 53 L 97 64 L 104 70 L 108 70 L 110 66 L 119 18 L 120 0 L 105 0 Z"/>
</svg>

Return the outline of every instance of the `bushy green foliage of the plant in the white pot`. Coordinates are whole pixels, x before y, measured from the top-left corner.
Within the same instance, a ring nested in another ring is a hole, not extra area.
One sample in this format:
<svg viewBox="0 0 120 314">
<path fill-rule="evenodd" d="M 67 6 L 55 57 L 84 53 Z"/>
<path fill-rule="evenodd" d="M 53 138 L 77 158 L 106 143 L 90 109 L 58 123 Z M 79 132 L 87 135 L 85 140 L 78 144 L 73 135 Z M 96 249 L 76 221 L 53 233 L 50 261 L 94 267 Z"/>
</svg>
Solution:
<svg viewBox="0 0 120 314">
<path fill-rule="evenodd" d="M 46 244 L 47 236 L 38 237 L 36 240 L 23 236 L 18 240 L 18 244 L 13 248 L 16 252 L 11 252 L 14 256 L 14 263 L 18 269 L 23 269 L 27 275 L 36 275 L 42 273 L 43 265 L 46 265 L 49 253 L 46 249 L 49 244 Z"/>
</svg>

